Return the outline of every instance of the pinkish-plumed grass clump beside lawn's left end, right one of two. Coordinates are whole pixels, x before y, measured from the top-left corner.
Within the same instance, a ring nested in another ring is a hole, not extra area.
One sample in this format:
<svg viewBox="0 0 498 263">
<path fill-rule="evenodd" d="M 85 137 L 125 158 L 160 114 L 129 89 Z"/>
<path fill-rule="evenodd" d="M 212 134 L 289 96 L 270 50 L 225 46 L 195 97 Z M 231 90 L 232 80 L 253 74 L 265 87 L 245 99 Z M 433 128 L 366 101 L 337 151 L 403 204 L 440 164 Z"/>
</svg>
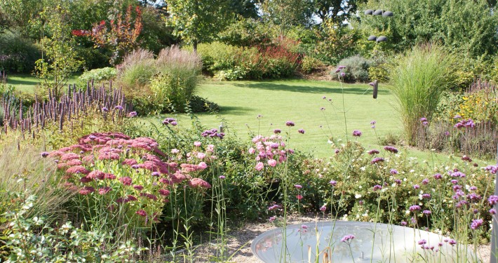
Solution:
<svg viewBox="0 0 498 263">
<path fill-rule="evenodd" d="M 161 50 L 156 60 L 159 75 L 151 81 L 159 109 L 173 108 L 183 112 L 184 105 L 195 93 L 201 73 L 201 60 L 196 53 L 177 46 Z"/>
</svg>

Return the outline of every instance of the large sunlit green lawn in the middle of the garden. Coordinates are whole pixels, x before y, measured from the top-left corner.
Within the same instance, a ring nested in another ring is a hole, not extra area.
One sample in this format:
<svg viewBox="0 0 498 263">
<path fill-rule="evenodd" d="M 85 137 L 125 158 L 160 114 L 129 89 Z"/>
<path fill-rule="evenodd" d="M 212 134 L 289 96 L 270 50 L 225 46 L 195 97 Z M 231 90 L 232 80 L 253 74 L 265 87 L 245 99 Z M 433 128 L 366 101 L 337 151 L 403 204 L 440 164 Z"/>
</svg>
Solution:
<svg viewBox="0 0 498 263">
<path fill-rule="evenodd" d="M 215 128 L 220 125 L 220 117 L 229 128 L 229 133 L 246 139 L 253 132 L 271 135 L 275 128 L 284 132 L 285 121 L 293 121 L 290 147 L 312 151 L 318 157 L 330 156 L 333 148 L 328 138 L 345 138 L 342 88 L 340 83 L 331 81 L 206 81 L 198 89 L 198 95 L 220 105 L 218 114 L 197 114 L 203 125 Z M 332 99 L 323 100 L 323 96 Z M 353 130 L 361 130 L 363 135 L 357 140 L 368 149 L 379 148 L 377 137 L 370 121 L 377 121 L 377 135 L 387 133 L 400 135 L 401 120 L 393 109 L 393 95 L 380 85 L 377 100 L 372 98 L 368 84 L 344 84 L 344 105 L 346 109 L 347 133 L 351 139 Z M 325 110 L 322 111 L 321 107 Z M 261 119 L 257 119 L 262 115 Z M 162 119 L 166 115 L 149 117 L 150 121 Z M 188 121 L 187 116 L 177 115 L 180 124 Z M 321 128 L 322 127 L 322 128 Z M 305 134 L 297 133 L 304 129 Z M 426 158 L 428 154 L 419 152 L 416 156 Z"/>
</svg>

